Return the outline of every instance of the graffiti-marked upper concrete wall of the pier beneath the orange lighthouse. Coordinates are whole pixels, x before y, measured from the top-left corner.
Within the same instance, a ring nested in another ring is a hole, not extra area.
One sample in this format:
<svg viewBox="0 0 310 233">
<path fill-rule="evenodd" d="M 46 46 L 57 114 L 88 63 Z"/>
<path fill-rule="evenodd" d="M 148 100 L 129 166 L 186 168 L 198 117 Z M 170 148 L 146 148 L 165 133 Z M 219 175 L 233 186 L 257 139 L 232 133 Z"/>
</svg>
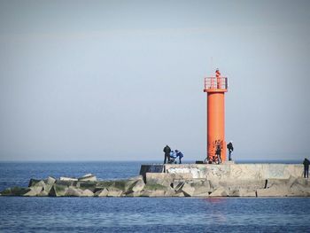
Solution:
<svg viewBox="0 0 310 233">
<path fill-rule="evenodd" d="M 299 164 L 151 164 L 142 165 L 140 175 L 146 173 L 167 173 L 183 175 L 191 179 L 217 180 L 266 180 L 289 179 L 303 176 L 303 166 Z"/>
</svg>

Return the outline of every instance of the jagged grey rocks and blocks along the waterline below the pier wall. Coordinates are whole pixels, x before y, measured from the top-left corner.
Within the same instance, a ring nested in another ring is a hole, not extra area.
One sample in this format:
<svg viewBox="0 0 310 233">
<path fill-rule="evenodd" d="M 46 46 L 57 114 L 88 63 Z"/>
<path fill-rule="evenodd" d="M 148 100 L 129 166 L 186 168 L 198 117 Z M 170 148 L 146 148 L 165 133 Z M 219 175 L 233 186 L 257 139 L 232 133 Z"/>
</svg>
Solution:
<svg viewBox="0 0 310 233">
<path fill-rule="evenodd" d="M 192 178 L 186 174 L 146 173 L 124 180 L 97 180 L 95 175 L 80 178 L 48 177 L 31 179 L 27 188 L 13 187 L 2 196 L 24 197 L 309 197 L 310 180 Z"/>
</svg>

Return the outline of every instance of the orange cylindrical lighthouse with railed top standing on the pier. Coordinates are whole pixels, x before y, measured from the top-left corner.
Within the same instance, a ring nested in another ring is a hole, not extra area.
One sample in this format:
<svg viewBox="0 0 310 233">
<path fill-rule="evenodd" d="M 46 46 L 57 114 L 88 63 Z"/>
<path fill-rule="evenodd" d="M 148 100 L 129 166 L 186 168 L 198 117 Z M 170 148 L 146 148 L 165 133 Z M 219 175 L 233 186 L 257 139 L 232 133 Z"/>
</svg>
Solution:
<svg viewBox="0 0 310 233">
<path fill-rule="evenodd" d="M 226 160 L 225 92 L 227 90 L 228 79 L 221 76 L 219 69 L 215 71 L 215 76 L 205 78 L 206 159 L 208 162 L 223 162 Z M 218 153 L 221 151 L 221 159 L 218 159 L 216 151 Z"/>
</svg>

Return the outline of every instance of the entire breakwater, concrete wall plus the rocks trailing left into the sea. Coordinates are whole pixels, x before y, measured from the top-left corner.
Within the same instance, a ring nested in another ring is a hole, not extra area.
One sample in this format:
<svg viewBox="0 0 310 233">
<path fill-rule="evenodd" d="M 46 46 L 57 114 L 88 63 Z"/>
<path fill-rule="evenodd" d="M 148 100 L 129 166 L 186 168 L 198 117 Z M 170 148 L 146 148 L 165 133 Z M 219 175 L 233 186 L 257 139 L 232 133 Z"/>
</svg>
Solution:
<svg viewBox="0 0 310 233">
<path fill-rule="evenodd" d="M 31 179 L 2 196 L 26 197 L 308 197 L 310 182 L 294 164 L 142 165 L 140 175 L 120 180 Z"/>
</svg>

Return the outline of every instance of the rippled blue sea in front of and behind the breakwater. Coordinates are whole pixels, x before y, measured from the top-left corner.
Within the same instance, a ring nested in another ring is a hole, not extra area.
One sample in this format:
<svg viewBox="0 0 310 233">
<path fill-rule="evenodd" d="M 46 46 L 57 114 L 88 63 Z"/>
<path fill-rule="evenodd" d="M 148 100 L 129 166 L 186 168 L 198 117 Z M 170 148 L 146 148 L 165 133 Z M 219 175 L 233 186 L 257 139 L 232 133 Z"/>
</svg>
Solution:
<svg viewBox="0 0 310 233">
<path fill-rule="evenodd" d="M 0 162 L 0 190 L 48 176 L 128 178 L 152 162 Z M 0 232 L 310 232 L 310 198 L 0 197 Z"/>
</svg>

